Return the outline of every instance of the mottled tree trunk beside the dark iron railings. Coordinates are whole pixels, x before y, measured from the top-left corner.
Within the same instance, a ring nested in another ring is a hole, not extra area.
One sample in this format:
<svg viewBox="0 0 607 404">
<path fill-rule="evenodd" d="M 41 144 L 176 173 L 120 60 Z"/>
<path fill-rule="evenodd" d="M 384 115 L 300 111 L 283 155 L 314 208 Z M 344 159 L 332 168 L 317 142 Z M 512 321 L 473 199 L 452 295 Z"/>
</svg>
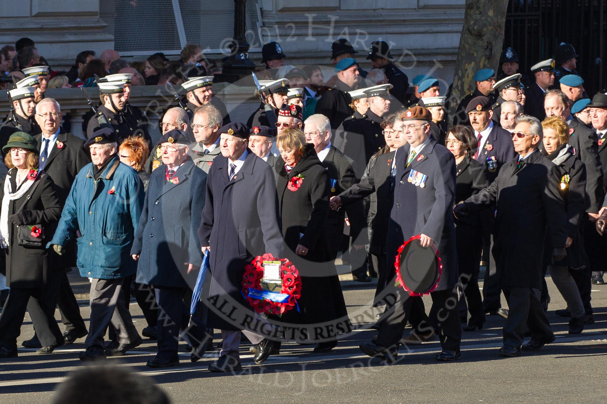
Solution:
<svg viewBox="0 0 607 404">
<path fill-rule="evenodd" d="M 466 0 L 464 26 L 461 28 L 449 112 L 466 94 L 475 89 L 474 73 L 481 68 L 498 70 L 508 0 Z"/>
</svg>

